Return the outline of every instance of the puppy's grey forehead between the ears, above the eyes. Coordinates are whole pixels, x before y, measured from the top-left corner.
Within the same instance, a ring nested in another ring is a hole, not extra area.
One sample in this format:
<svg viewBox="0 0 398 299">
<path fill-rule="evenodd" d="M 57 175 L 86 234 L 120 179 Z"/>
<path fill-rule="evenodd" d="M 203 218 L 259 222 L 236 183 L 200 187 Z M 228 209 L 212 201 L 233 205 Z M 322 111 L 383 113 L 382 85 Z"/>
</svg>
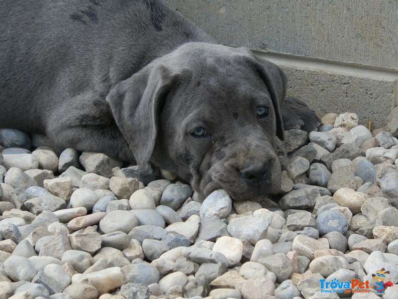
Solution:
<svg viewBox="0 0 398 299">
<path fill-rule="evenodd" d="M 253 67 L 253 55 L 245 48 L 188 43 L 175 52 L 168 63 L 176 63 L 184 74 L 180 91 L 189 91 L 191 105 L 200 104 L 206 96 L 216 100 L 210 103 L 213 105 L 231 105 L 235 101 L 242 105 L 252 98 L 270 98 L 264 81 Z"/>
</svg>

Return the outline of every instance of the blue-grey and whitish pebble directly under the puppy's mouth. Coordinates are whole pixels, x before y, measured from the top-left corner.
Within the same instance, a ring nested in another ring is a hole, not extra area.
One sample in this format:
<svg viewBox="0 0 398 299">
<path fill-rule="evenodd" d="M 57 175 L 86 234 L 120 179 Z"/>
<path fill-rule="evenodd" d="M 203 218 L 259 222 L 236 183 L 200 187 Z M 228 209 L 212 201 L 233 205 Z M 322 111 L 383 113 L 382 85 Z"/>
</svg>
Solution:
<svg viewBox="0 0 398 299">
<path fill-rule="evenodd" d="M 176 211 L 191 195 L 192 189 L 190 185 L 177 182 L 166 187 L 159 203 Z"/>
</svg>

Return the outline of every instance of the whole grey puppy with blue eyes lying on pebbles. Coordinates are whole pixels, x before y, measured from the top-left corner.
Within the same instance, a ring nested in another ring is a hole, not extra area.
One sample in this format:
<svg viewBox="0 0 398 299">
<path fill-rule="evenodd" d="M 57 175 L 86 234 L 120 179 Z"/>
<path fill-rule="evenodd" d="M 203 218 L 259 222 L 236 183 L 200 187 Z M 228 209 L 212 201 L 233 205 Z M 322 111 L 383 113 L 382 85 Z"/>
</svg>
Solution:
<svg viewBox="0 0 398 299">
<path fill-rule="evenodd" d="M 286 79 L 274 64 L 217 45 L 161 0 L 2 0 L 0 27 L 0 127 L 150 161 L 201 197 L 278 192 Z M 301 106 L 285 119 L 312 129 Z"/>
</svg>

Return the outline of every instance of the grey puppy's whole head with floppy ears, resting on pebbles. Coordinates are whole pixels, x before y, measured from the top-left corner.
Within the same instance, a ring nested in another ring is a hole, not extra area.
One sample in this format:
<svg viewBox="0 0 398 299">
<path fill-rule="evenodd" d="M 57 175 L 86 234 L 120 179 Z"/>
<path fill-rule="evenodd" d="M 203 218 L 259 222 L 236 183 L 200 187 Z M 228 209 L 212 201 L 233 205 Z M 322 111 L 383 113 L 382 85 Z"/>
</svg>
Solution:
<svg viewBox="0 0 398 299">
<path fill-rule="evenodd" d="M 116 85 L 107 96 L 138 163 L 190 181 L 200 196 L 276 193 L 285 75 L 243 48 L 188 43 Z"/>
</svg>

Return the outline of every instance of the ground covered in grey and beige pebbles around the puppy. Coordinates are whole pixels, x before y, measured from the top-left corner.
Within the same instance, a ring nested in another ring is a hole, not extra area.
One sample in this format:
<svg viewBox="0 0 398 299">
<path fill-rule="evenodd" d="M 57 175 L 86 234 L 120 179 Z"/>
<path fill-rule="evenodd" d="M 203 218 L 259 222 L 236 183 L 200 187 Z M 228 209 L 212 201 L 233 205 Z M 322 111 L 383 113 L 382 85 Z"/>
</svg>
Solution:
<svg viewBox="0 0 398 299">
<path fill-rule="evenodd" d="M 322 123 L 285 132 L 280 200 L 256 202 L 1 129 L 0 299 L 337 299 L 320 280 L 375 287 L 382 268 L 397 284 L 398 140 L 353 113 Z M 369 290 L 340 296 L 398 298 Z"/>
</svg>

